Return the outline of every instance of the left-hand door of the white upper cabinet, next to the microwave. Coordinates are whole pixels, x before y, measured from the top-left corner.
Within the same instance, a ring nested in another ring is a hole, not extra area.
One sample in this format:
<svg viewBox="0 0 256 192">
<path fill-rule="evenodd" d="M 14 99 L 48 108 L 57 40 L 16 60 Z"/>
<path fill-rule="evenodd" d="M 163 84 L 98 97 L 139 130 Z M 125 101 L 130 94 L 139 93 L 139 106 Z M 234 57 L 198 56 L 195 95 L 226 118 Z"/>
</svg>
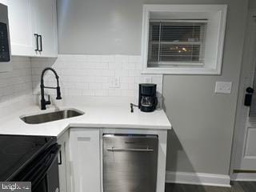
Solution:
<svg viewBox="0 0 256 192">
<path fill-rule="evenodd" d="M 0 1 L 8 6 L 12 55 L 34 55 L 34 17 L 32 17 L 31 1 Z"/>
</svg>

